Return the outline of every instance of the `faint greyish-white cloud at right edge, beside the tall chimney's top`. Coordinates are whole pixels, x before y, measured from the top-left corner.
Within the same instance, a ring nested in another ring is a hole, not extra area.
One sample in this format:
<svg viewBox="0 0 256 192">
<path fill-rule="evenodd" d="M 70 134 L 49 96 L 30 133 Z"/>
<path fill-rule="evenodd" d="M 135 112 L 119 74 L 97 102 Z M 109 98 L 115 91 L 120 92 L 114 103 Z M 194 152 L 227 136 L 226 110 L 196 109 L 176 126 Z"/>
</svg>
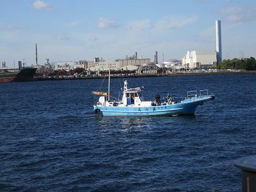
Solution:
<svg viewBox="0 0 256 192">
<path fill-rule="evenodd" d="M 241 23 L 256 20 L 256 7 L 229 7 L 222 9 L 227 21 L 231 23 Z"/>
</svg>

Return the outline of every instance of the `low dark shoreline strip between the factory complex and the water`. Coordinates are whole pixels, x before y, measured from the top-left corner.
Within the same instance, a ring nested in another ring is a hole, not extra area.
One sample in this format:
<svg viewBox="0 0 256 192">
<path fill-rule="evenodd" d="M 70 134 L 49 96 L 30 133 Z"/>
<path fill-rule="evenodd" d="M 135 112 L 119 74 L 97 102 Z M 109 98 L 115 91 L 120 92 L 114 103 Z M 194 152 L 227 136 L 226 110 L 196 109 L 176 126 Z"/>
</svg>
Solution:
<svg viewBox="0 0 256 192">
<path fill-rule="evenodd" d="M 212 73 L 169 73 L 169 74 L 135 74 L 123 76 L 111 76 L 111 78 L 140 78 L 140 77 L 172 77 L 172 76 L 204 76 L 204 75 L 229 75 L 229 74 L 256 74 L 256 71 L 240 72 L 212 72 Z M 74 80 L 74 79 L 104 79 L 107 76 L 89 76 L 89 77 L 34 77 L 34 80 Z"/>
</svg>

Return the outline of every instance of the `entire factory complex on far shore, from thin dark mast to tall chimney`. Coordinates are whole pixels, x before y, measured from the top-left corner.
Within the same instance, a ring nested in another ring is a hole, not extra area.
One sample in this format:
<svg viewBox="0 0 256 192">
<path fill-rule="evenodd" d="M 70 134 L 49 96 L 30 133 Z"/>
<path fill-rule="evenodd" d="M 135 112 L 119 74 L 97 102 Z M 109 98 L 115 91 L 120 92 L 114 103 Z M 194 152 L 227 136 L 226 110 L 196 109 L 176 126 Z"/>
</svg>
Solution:
<svg viewBox="0 0 256 192">
<path fill-rule="evenodd" d="M 100 74 L 101 71 L 108 71 L 109 68 L 111 71 L 116 72 L 133 71 L 136 74 L 147 74 L 159 73 L 159 71 L 174 73 L 179 70 L 184 71 L 187 69 L 213 69 L 221 62 L 221 21 L 216 20 L 216 50 L 187 51 L 181 60 L 162 59 L 162 62 L 158 63 L 158 53 L 155 51 L 154 62 L 151 62 L 149 58 L 143 58 L 142 55 L 138 58 L 138 53 L 135 52 L 135 54 L 130 57 L 126 55 L 123 59 L 115 59 L 113 61 L 106 61 L 102 59 L 102 57 L 101 59 L 95 57 L 94 60 L 59 61 L 50 63 L 49 59 L 46 59 L 44 65 L 38 65 L 36 44 L 36 65 L 32 65 L 32 67 L 37 68 L 38 74 L 49 74 L 53 71 L 66 71 L 69 73 L 69 71 L 81 70 L 82 72 L 86 71 L 86 74 Z"/>
</svg>

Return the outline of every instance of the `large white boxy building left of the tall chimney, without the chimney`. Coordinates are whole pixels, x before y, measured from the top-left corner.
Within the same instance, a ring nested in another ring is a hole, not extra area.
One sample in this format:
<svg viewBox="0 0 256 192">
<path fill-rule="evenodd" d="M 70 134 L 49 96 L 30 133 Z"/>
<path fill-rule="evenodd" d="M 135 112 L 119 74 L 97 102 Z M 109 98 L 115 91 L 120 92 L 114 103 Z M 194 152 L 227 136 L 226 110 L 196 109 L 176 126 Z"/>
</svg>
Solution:
<svg viewBox="0 0 256 192">
<path fill-rule="evenodd" d="M 216 67 L 216 51 L 187 51 L 182 58 L 184 68 L 211 68 Z"/>
</svg>

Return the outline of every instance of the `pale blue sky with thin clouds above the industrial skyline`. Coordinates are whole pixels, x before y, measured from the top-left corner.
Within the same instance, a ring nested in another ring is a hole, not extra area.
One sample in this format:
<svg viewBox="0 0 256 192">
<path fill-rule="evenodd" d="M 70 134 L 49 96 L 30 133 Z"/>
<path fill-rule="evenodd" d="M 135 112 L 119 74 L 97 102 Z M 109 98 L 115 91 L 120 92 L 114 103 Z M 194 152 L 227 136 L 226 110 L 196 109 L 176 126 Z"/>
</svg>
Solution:
<svg viewBox="0 0 256 192">
<path fill-rule="evenodd" d="M 243 0 L 0 0 L 0 62 L 181 59 L 187 51 L 216 50 L 222 59 L 256 57 L 256 1 Z M 17 64 L 16 64 L 17 65 Z"/>
</svg>

